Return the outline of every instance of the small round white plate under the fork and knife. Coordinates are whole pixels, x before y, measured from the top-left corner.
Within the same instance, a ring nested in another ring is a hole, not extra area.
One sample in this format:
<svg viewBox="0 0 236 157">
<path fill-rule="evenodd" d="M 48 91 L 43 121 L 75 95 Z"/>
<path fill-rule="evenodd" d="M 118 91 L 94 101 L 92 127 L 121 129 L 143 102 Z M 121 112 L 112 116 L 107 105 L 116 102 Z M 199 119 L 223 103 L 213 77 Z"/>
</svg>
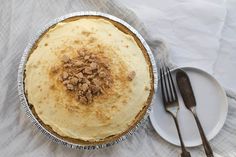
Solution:
<svg viewBox="0 0 236 157">
<path fill-rule="evenodd" d="M 205 71 L 193 67 L 181 67 L 181 69 L 190 78 L 196 99 L 198 118 L 207 139 L 211 140 L 220 131 L 226 120 L 228 102 L 225 91 L 217 80 Z M 187 147 L 198 146 L 202 144 L 202 141 L 194 117 L 185 107 L 179 93 L 175 79 L 176 69 L 172 70 L 171 73 L 179 99 L 180 109 L 177 118 L 184 143 Z M 180 145 L 174 120 L 164 109 L 160 86 L 158 87 L 156 100 L 153 103 L 150 120 L 156 132 L 163 139 L 174 145 Z"/>
</svg>

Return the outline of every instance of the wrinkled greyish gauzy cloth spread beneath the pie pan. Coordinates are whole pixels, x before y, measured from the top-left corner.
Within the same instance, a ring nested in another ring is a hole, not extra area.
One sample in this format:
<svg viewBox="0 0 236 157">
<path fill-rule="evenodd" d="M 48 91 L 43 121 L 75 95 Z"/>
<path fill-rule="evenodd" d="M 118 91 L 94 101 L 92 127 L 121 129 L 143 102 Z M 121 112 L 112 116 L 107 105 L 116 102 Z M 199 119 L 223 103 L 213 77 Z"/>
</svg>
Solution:
<svg viewBox="0 0 236 157">
<path fill-rule="evenodd" d="M 17 93 L 17 68 L 30 38 L 50 20 L 67 13 L 93 10 L 117 16 L 146 39 L 156 62 L 169 64 L 166 44 L 151 38 L 137 16 L 117 2 L 102 1 L 2 1 L 0 6 L 0 152 L 11 157 L 136 156 L 174 157 L 180 148 L 164 141 L 149 121 L 126 141 L 100 150 L 75 150 L 55 144 L 40 134 L 20 108 Z M 229 113 L 220 133 L 211 141 L 217 157 L 236 156 L 236 94 L 227 92 Z M 205 156 L 202 147 L 189 149 L 192 156 Z"/>
</svg>

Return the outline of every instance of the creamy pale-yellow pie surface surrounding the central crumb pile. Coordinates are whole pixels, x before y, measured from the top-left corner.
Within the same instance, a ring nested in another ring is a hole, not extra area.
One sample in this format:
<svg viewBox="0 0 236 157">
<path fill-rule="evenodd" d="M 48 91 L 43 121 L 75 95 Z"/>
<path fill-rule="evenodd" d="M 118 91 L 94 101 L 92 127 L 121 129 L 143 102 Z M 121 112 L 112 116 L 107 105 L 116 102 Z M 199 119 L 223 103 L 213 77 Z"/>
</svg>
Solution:
<svg viewBox="0 0 236 157">
<path fill-rule="evenodd" d="M 67 20 L 51 28 L 33 49 L 25 89 L 33 111 L 54 134 L 79 143 L 107 141 L 120 137 L 144 115 L 153 93 L 149 60 L 140 42 L 113 24 L 102 18 Z M 108 58 L 114 81 L 89 105 L 77 101 L 52 73 L 63 55 L 74 58 L 82 48 Z"/>
</svg>

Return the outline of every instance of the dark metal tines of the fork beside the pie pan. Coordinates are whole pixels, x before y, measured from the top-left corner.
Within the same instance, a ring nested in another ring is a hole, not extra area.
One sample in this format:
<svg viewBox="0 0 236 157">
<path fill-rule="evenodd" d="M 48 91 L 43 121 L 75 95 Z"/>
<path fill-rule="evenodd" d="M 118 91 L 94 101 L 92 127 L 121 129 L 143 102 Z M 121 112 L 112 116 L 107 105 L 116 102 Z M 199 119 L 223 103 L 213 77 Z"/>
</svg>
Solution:
<svg viewBox="0 0 236 157">
<path fill-rule="evenodd" d="M 178 101 L 174 82 L 168 67 L 160 68 L 160 81 L 163 103 L 171 105 L 172 102 Z"/>
</svg>

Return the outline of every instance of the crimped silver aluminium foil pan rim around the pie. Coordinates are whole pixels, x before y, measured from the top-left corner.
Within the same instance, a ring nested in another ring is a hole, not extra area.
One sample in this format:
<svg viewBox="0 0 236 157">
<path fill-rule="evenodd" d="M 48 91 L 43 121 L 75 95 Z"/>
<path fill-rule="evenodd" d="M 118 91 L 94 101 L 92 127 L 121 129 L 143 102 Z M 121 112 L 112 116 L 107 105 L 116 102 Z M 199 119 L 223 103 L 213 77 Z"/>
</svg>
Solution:
<svg viewBox="0 0 236 157">
<path fill-rule="evenodd" d="M 125 26 L 126 28 L 128 28 L 132 33 L 134 33 L 136 35 L 136 37 L 141 41 L 142 45 L 144 46 L 144 48 L 146 49 L 147 55 L 150 58 L 151 61 L 151 65 L 152 65 L 152 69 L 153 69 L 153 75 L 154 75 L 154 95 L 157 91 L 157 67 L 156 67 L 156 63 L 154 60 L 154 56 L 149 48 L 149 46 L 147 45 L 146 41 L 144 40 L 144 38 L 132 27 L 130 26 L 128 23 L 126 23 L 125 21 L 114 17 L 110 14 L 105 14 L 105 13 L 101 13 L 101 12 L 93 12 L 93 11 L 84 11 L 84 12 L 75 12 L 75 13 L 71 13 L 71 14 L 67 14 L 64 16 L 61 16 L 59 18 L 54 19 L 53 21 L 51 21 L 49 24 L 45 25 L 33 38 L 32 40 L 30 40 L 30 42 L 28 43 L 26 49 L 24 50 L 23 56 L 21 58 L 20 61 L 20 65 L 19 65 L 19 69 L 18 69 L 18 93 L 19 93 L 19 97 L 20 97 L 20 102 L 21 105 L 23 106 L 26 115 L 30 118 L 30 120 L 32 121 L 32 123 L 40 130 L 41 133 L 43 133 L 48 139 L 52 140 L 55 143 L 58 144 L 62 144 L 66 147 L 70 147 L 70 148 L 76 148 L 76 149 L 86 149 L 86 150 L 91 150 L 91 149 L 98 149 L 98 148 L 104 148 L 104 147 L 108 147 L 111 145 L 114 145 L 116 143 L 119 143 L 120 141 L 123 141 L 125 139 L 127 139 L 129 136 L 131 136 L 132 134 L 135 133 L 135 131 L 140 128 L 141 126 L 143 126 L 145 124 L 145 121 L 148 119 L 149 113 L 151 111 L 151 105 L 148 107 L 144 117 L 137 123 L 137 125 L 135 127 L 133 127 L 129 132 L 127 132 L 125 135 L 121 136 L 120 138 L 118 138 L 117 140 L 111 141 L 111 142 L 107 142 L 107 143 L 100 143 L 100 144 L 78 144 L 78 143 L 72 143 L 69 141 L 66 141 L 64 139 L 62 139 L 59 136 L 56 136 L 54 134 L 52 134 L 50 131 L 48 131 L 43 125 L 41 125 L 41 123 L 38 121 L 38 119 L 34 116 L 34 114 L 32 113 L 30 106 L 27 102 L 26 99 L 26 95 L 25 95 L 25 90 L 24 90 L 24 70 L 25 70 L 25 64 L 27 62 L 28 56 L 30 54 L 31 49 L 33 48 L 35 42 L 39 39 L 39 37 L 47 30 L 49 29 L 51 26 L 53 26 L 54 24 L 59 23 L 60 21 L 63 21 L 65 19 L 71 18 L 71 17 L 78 17 L 78 16 L 100 16 L 100 17 L 105 17 L 109 20 L 112 20 L 114 22 L 118 22 L 119 24 Z M 153 102 L 154 98 L 152 99 Z"/>
</svg>

